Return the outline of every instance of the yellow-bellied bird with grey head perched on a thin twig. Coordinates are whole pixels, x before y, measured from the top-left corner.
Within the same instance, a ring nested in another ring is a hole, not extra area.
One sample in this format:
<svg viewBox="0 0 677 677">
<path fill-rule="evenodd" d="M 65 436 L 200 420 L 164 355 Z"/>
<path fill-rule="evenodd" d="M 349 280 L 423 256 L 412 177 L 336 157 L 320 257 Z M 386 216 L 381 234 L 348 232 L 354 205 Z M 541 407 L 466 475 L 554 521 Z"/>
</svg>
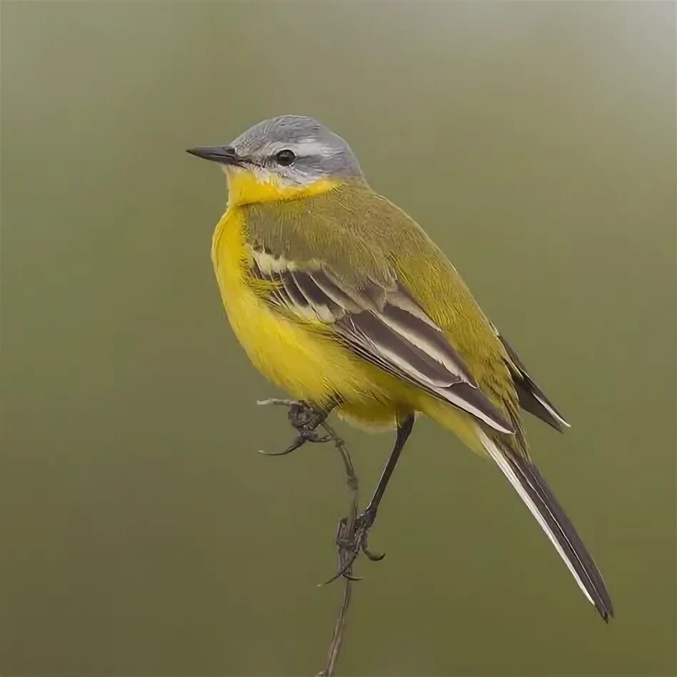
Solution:
<svg viewBox="0 0 677 677">
<path fill-rule="evenodd" d="M 531 460 L 521 411 L 558 431 L 569 423 L 443 251 L 371 188 L 348 143 L 316 119 L 283 115 L 187 152 L 226 174 L 211 244 L 221 299 L 251 363 L 316 413 L 306 437 L 330 411 L 395 431 L 356 550 L 371 554 L 366 533 L 416 417 L 427 416 L 496 463 L 588 601 L 613 618 L 596 563 Z"/>
</svg>

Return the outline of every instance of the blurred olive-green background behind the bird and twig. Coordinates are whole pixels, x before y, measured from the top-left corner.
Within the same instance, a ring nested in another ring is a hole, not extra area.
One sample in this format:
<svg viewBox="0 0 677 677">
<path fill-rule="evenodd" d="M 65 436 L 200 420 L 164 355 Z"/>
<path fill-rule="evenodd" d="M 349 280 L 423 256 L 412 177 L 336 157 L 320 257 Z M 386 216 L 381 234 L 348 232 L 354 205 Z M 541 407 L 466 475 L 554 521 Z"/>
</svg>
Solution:
<svg viewBox="0 0 677 677">
<path fill-rule="evenodd" d="M 309 675 L 339 459 L 290 436 L 209 261 L 269 116 L 345 136 L 573 423 L 534 456 L 607 627 L 508 484 L 418 426 L 360 563 L 345 675 L 675 674 L 675 5 L 1 5 L 0 671 Z M 366 495 L 391 436 L 341 425 Z"/>
</svg>

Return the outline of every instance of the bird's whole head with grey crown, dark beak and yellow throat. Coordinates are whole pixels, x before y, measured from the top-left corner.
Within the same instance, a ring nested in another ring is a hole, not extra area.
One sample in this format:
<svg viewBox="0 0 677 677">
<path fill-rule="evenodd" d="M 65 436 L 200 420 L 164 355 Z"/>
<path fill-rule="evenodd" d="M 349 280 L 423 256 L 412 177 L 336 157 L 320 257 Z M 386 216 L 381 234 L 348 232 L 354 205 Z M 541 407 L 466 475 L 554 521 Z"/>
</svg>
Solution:
<svg viewBox="0 0 677 677">
<path fill-rule="evenodd" d="M 296 199 L 343 181 L 363 181 L 346 141 L 309 117 L 283 115 L 250 127 L 227 146 L 189 149 L 221 164 L 229 204 Z"/>
</svg>

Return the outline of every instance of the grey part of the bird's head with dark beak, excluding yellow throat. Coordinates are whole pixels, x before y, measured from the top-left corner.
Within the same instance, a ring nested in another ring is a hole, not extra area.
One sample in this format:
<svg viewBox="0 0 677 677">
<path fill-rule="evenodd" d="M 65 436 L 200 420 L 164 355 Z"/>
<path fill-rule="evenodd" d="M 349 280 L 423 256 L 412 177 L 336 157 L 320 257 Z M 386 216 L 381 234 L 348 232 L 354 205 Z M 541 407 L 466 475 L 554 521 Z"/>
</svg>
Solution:
<svg viewBox="0 0 677 677">
<path fill-rule="evenodd" d="M 259 181 L 304 186 L 321 179 L 363 179 L 350 146 L 319 121 L 282 115 L 250 127 L 227 146 L 194 148 L 224 171 L 251 171 Z"/>
</svg>

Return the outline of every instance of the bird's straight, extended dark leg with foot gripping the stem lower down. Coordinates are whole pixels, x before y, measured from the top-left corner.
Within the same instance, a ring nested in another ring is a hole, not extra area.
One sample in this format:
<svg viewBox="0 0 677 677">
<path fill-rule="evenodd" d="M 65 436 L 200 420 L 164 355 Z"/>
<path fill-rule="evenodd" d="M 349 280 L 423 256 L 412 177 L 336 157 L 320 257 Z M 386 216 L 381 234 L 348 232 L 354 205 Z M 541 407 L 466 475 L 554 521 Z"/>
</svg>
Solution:
<svg viewBox="0 0 677 677">
<path fill-rule="evenodd" d="M 369 501 L 366 510 L 358 516 L 354 523 L 354 528 L 352 533 L 346 534 L 346 525 L 347 519 L 343 518 L 339 522 L 339 535 L 336 538 L 336 545 L 339 546 L 339 551 L 343 554 L 341 557 L 341 562 L 344 562 L 343 567 L 336 573 L 336 576 L 330 578 L 327 583 L 334 581 L 339 576 L 345 576 L 356 560 L 359 553 L 364 553 L 368 559 L 371 561 L 378 561 L 385 557 L 384 553 L 376 554 L 369 550 L 367 546 L 367 536 L 368 531 L 373 525 L 374 520 L 376 519 L 376 511 L 378 511 L 378 504 L 381 503 L 381 498 L 383 498 L 383 493 L 386 491 L 386 486 L 388 485 L 388 480 L 397 465 L 398 458 L 404 444 L 407 441 L 408 436 L 411 434 L 411 428 L 413 428 L 413 414 L 408 416 L 401 423 L 397 424 L 397 437 L 395 440 L 395 445 L 393 446 L 393 451 L 391 451 L 390 458 L 388 458 L 388 463 L 386 467 L 383 468 L 383 473 L 381 473 L 381 479 L 378 480 L 378 485 L 376 486 L 376 491 L 373 492 L 371 501 Z"/>
</svg>

